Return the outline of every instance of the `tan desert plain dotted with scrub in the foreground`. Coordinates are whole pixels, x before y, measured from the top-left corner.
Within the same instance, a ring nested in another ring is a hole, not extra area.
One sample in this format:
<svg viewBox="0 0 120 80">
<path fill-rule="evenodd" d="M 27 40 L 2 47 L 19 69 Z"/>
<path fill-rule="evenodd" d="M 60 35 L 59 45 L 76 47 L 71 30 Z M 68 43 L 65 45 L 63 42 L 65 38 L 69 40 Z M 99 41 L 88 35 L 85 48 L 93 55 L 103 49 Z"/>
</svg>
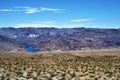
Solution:
<svg viewBox="0 0 120 80">
<path fill-rule="evenodd" d="M 0 53 L 0 80 L 120 80 L 120 52 L 78 53 Z"/>
</svg>

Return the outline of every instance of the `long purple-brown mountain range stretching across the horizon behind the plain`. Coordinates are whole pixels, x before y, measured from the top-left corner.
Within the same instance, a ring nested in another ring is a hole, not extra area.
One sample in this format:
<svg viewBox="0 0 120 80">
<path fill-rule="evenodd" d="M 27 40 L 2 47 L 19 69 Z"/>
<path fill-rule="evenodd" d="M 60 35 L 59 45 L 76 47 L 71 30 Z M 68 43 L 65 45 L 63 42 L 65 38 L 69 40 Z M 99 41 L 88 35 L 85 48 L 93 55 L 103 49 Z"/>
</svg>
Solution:
<svg viewBox="0 0 120 80">
<path fill-rule="evenodd" d="M 120 29 L 0 28 L 0 51 L 42 51 L 120 47 Z"/>
</svg>

